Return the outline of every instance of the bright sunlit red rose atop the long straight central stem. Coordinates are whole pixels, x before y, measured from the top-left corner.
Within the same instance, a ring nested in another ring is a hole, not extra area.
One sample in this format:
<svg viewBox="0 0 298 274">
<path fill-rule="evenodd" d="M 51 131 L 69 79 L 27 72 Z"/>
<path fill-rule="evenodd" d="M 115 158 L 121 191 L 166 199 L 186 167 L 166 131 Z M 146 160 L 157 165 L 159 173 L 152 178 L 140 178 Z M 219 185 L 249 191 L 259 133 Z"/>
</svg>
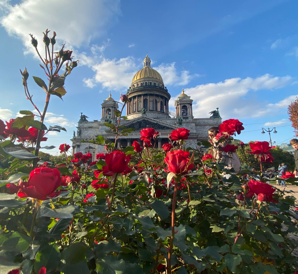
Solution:
<svg viewBox="0 0 298 274">
<path fill-rule="evenodd" d="M 189 151 L 181 149 L 169 151 L 164 159 L 167 163 L 167 168 L 175 174 L 187 174 L 187 171 L 193 168 L 193 164 L 189 165 Z"/>
</svg>

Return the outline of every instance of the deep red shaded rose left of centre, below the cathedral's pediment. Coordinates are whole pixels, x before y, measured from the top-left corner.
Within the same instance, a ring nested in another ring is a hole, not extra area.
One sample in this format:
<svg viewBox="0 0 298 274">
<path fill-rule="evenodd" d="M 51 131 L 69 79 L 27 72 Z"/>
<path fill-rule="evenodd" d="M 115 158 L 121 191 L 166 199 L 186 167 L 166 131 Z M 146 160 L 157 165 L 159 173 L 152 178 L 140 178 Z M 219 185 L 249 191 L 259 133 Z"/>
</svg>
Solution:
<svg viewBox="0 0 298 274">
<path fill-rule="evenodd" d="M 114 173 L 122 173 L 126 170 L 130 157 L 122 151 L 113 151 L 105 154 L 105 162 L 108 169 Z"/>
</svg>

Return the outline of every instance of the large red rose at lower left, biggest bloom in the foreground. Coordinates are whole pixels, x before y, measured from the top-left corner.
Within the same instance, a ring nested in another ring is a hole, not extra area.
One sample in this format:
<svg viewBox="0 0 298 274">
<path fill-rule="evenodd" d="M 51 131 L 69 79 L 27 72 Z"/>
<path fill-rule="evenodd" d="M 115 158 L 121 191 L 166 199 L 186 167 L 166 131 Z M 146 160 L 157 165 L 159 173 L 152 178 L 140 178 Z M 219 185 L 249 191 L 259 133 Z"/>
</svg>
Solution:
<svg viewBox="0 0 298 274">
<path fill-rule="evenodd" d="M 19 197 L 31 197 L 46 200 L 61 185 L 60 171 L 57 168 L 35 168 L 29 175 L 28 182 L 19 182 Z"/>
</svg>

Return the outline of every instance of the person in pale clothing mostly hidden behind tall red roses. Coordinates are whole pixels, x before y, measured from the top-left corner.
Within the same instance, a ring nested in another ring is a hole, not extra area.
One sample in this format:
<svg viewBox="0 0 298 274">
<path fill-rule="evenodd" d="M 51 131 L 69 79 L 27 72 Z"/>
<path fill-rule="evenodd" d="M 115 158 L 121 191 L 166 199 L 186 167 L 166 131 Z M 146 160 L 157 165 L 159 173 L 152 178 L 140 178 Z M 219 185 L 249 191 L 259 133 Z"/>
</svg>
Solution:
<svg viewBox="0 0 298 274">
<path fill-rule="evenodd" d="M 218 126 L 212 126 L 210 129 L 208 129 L 209 138 L 211 139 L 212 145 L 214 145 L 218 140 L 215 138 L 216 134 L 218 134 Z M 217 149 L 212 148 L 211 154 L 215 159 L 220 158 L 220 153 Z M 221 151 L 222 162 L 224 162 L 226 165 L 228 165 L 228 168 L 234 168 L 236 172 L 240 171 L 241 163 L 238 157 L 237 152 L 232 152 L 231 156 L 228 155 L 228 153 Z"/>
</svg>

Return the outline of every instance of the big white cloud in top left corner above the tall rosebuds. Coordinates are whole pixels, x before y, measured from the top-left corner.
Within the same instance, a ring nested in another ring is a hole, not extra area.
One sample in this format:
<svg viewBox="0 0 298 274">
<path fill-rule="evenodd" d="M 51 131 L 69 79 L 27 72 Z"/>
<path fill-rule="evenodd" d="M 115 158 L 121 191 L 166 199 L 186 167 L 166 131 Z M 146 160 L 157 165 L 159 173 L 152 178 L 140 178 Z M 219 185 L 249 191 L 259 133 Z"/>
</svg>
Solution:
<svg viewBox="0 0 298 274">
<path fill-rule="evenodd" d="M 63 41 L 69 48 L 80 47 L 89 45 L 93 38 L 103 35 L 111 27 L 111 22 L 117 21 L 121 13 L 119 6 L 119 0 L 86 1 L 83 4 L 80 0 L 24 0 L 15 5 L 2 1 L 0 7 L 5 16 L 1 24 L 10 35 L 23 41 L 26 53 L 35 52 L 28 33 L 36 36 L 38 48 L 43 52 L 42 32 L 46 28 L 57 33 L 58 47 Z"/>
</svg>

